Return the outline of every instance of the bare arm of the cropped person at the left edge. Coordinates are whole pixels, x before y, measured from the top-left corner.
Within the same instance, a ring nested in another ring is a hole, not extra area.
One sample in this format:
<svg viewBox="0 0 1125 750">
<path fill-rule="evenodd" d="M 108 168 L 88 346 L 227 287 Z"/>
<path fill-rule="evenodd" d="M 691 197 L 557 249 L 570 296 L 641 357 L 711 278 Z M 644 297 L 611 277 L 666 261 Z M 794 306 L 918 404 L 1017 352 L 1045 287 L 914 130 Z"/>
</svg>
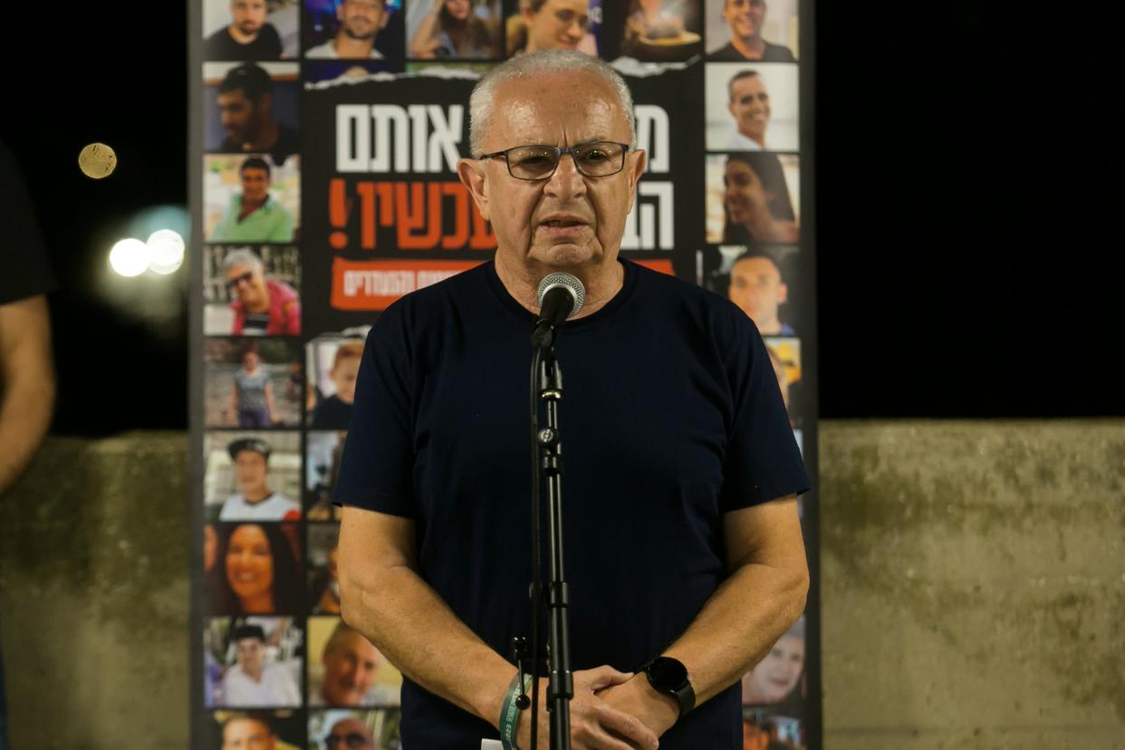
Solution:
<svg viewBox="0 0 1125 750">
<path fill-rule="evenodd" d="M 0 399 L 3 493 L 35 454 L 55 404 L 51 316 L 43 295 L 0 305 Z"/>
</svg>

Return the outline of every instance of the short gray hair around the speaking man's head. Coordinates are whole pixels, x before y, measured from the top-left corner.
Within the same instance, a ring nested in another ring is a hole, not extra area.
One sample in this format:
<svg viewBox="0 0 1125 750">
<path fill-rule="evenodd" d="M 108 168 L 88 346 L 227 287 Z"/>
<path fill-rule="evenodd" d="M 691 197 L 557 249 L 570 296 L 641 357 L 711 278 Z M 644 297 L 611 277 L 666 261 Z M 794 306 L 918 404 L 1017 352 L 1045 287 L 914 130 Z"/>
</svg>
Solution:
<svg viewBox="0 0 1125 750">
<path fill-rule="evenodd" d="M 514 79 L 529 79 L 552 73 L 580 71 L 593 73 L 608 81 L 621 100 L 621 109 L 629 123 L 629 147 L 637 147 L 637 118 L 633 115 L 632 93 L 621 74 L 597 57 L 574 49 L 542 49 L 526 55 L 516 55 L 497 65 L 472 88 L 469 97 L 469 148 L 474 156 L 484 153 L 483 142 L 492 117 L 493 97 L 497 87 Z"/>
</svg>

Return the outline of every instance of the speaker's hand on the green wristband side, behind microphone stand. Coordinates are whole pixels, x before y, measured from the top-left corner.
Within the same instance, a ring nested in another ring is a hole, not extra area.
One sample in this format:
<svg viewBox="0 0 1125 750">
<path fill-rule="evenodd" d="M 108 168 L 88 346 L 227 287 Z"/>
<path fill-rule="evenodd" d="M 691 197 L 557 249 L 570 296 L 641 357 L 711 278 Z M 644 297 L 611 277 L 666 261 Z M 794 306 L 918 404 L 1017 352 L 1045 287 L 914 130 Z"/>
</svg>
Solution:
<svg viewBox="0 0 1125 750">
<path fill-rule="evenodd" d="M 638 716 L 614 707 L 602 697 L 608 689 L 624 685 L 631 678 L 632 675 L 629 672 L 620 672 L 608 665 L 574 672 L 574 698 L 570 701 L 573 750 L 656 750 L 657 735 Z M 541 678 L 537 750 L 547 750 L 550 747 L 547 689 L 548 680 Z M 520 748 L 531 748 L 530 708 L 520 712 L 515 740 Z"/>
</svg>

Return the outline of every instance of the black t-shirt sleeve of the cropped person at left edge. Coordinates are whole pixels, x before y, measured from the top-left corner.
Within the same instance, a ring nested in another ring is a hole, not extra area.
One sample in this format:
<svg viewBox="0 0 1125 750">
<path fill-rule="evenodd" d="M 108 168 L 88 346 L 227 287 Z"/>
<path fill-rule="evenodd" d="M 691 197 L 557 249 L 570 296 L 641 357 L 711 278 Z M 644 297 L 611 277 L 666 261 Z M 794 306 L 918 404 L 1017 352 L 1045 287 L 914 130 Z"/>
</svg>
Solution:
<svg viewBox="0 0 1125 750">
<path fill-rule="evenodd" d="M 51 291 L 55 280 L 16 156 L 3 144 L 0 144 L 0 197 L 4 205 L 4 222 L 0 226 L 0 305 L 6 305 Z"/>
</svg>

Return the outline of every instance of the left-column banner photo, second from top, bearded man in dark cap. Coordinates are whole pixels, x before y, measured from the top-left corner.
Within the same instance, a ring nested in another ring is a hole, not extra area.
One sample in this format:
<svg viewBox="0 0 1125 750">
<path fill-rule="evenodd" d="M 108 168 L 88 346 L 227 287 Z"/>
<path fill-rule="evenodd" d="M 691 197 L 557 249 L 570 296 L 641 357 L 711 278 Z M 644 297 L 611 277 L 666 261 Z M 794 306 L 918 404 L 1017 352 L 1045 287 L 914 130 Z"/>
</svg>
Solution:
<svg viewBox="0 0 1125 750">
<path fill-rule="evenodd" d="M 269 154 L 284 164 L 300 153 L 297 63 L 204 63 L 204 147 L 219 154 Z"/>
</svg>

